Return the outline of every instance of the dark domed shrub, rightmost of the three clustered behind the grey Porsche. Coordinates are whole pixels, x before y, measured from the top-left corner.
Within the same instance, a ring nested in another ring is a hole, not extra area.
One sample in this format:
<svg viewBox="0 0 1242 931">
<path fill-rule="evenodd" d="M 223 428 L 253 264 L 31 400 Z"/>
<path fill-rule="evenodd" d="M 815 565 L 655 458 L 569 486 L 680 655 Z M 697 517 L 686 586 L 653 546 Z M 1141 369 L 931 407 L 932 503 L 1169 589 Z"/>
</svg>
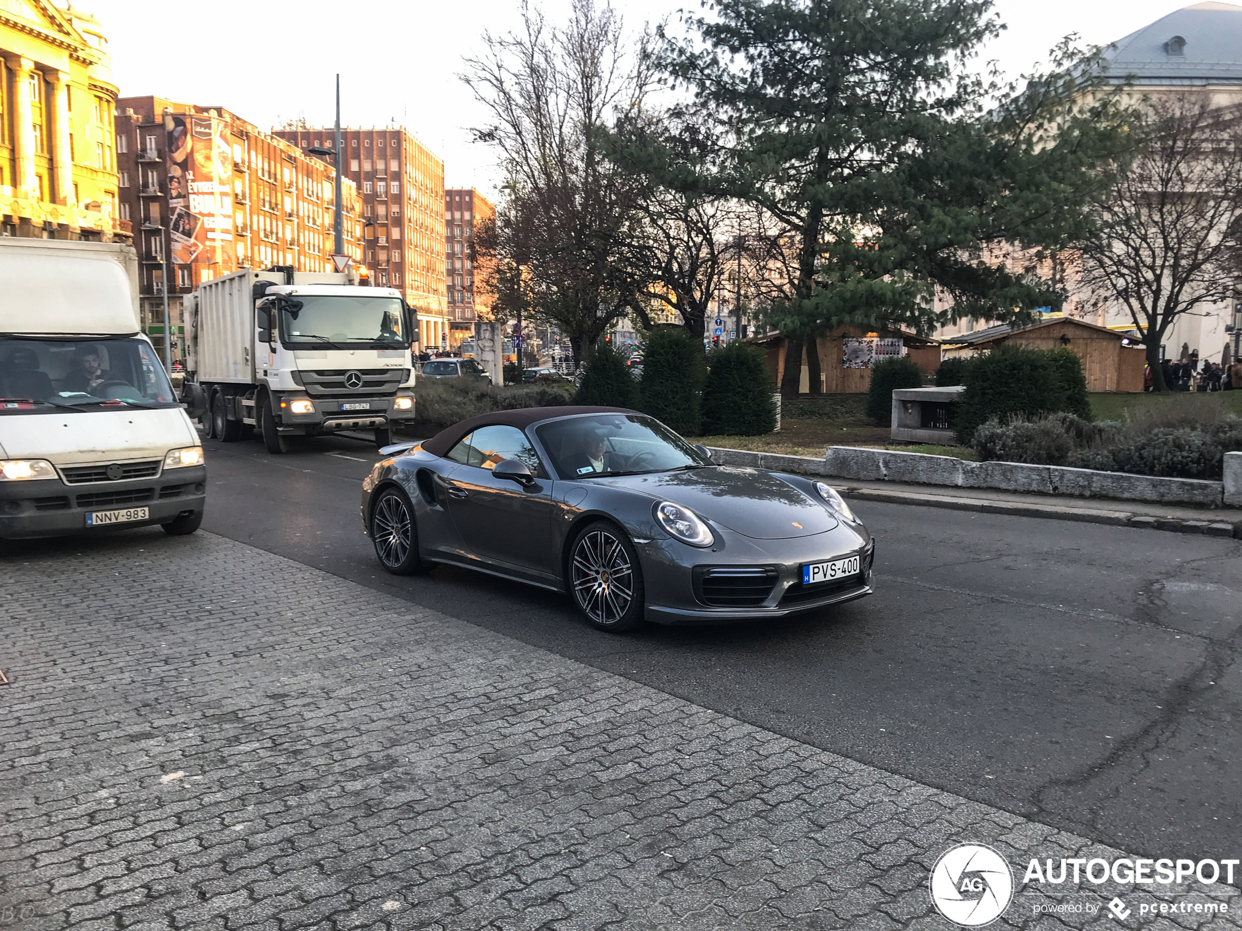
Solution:
<svg viewBox="0 0 1242 931">
<path fill-rule="evenodd" d="M 703 432 L 754 437 L 776 428 L 771 375 L 764 354 L 748 343 L 728 343 L 712 354 L 703 387 Z"/>
</svg>

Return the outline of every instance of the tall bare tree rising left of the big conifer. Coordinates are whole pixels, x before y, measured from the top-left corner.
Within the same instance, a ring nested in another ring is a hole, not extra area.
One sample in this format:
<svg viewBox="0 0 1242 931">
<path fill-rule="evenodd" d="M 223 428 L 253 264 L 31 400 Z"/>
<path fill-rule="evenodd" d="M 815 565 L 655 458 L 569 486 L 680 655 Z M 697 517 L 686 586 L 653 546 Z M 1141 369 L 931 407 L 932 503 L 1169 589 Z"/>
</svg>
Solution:
<svg viewBox="0 0 1242 931">
<path fill-rule="evenodd" d="M 604 143 L 652 84 L 647 40 L 631 45 L 617 12 L 595 0 L 574 0 L 561 29 L 527 2 L 522 21 L 518 32 L 484 34 L 487 53 L 466 61 L 462 79 L 492 117 L 476 137 L 499 149 L 513 179 L 498 222 L 520 232 L 493 238 L 498 268 L 522 266 L 533 313 L 565 333 L 581 360 L 636 303 L 617 251 L 642 180 L 611 161 Z M 520 257 L 503 254 L 507 240 L 520 241 Z"/>
</svg>

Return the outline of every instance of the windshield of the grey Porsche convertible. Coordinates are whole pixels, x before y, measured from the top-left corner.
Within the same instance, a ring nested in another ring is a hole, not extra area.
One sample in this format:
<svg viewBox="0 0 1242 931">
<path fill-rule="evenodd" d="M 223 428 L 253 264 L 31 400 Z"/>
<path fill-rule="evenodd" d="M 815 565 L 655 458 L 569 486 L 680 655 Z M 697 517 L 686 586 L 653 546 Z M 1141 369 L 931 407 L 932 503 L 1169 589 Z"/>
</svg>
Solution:
<svg viewBox="0 0 1242 931">
<path fill-rule="evenodd" d="M 700 468 L 712 461 L 641 413 L 597 413 L 535 428 L 561 478 L 636 475 Z"/>
</svg>

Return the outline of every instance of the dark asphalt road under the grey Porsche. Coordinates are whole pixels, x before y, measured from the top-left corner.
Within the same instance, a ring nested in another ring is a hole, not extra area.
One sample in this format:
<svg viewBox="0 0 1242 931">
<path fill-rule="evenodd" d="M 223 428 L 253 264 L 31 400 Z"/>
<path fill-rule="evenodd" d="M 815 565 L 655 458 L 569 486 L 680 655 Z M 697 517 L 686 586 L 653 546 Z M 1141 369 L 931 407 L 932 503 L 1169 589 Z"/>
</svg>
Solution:
<svg viewBox="0 0 1242 931">
<path fill-rule="evenodd" d="M 1242 854 L 1240 541 L 859 503 L 873 597 L 617 637 L 481 573 L 384 573 L 369 443 L 206 446 L 212 533 L 1123 849 Z"/>
</svg>

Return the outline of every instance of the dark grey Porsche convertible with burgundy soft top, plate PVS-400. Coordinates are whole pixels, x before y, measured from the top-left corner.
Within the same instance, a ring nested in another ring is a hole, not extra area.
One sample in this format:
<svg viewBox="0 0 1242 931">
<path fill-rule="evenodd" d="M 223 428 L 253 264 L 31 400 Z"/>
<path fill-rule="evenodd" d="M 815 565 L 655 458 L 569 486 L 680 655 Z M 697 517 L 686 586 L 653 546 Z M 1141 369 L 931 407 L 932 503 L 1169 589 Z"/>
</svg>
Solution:
<svg viewBox="0 0 1242 931">
<path fill-rule="evenodd" d="M 874 542 L 831 487 L 717 466 L 635 411 L 501 411 L 381 453 L 363 528 L 395 575 L 478 569 L 565 592 L 612 632 L 771 619 L 872 592 Z"/>
</svg>

